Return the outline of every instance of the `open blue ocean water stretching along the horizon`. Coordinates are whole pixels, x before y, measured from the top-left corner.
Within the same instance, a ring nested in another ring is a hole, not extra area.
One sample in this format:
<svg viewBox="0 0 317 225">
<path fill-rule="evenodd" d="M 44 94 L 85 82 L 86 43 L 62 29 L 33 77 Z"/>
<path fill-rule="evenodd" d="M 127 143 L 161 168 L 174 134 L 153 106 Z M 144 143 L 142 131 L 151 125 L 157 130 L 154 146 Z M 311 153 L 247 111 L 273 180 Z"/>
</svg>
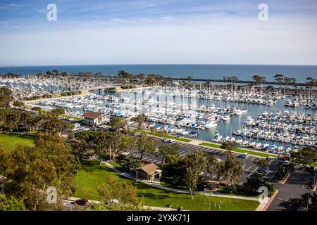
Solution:
<svg viewBox="0 0 317 225">
<path fill-rule="evenodd" d="M 317 78 L 317 65 L 51 65 L 0 67 L 0 74 L 13 72 L 21 75 L 35 75 L 48 70 L 76 72 L 101 72 L 102 75 L 116 75 L 118 70 L 132 74 L 157 74 L 171 77 L 187 77 L 203 79 L 222 79 L 223 76 L 236 76 L 241 80 L 250 80 L 253 75 L 266 76 L 274 81 L 274 75 L 282 74 L 294 77 L 297 82 L 304 82 L 306 77 Z"/>
</svg>

